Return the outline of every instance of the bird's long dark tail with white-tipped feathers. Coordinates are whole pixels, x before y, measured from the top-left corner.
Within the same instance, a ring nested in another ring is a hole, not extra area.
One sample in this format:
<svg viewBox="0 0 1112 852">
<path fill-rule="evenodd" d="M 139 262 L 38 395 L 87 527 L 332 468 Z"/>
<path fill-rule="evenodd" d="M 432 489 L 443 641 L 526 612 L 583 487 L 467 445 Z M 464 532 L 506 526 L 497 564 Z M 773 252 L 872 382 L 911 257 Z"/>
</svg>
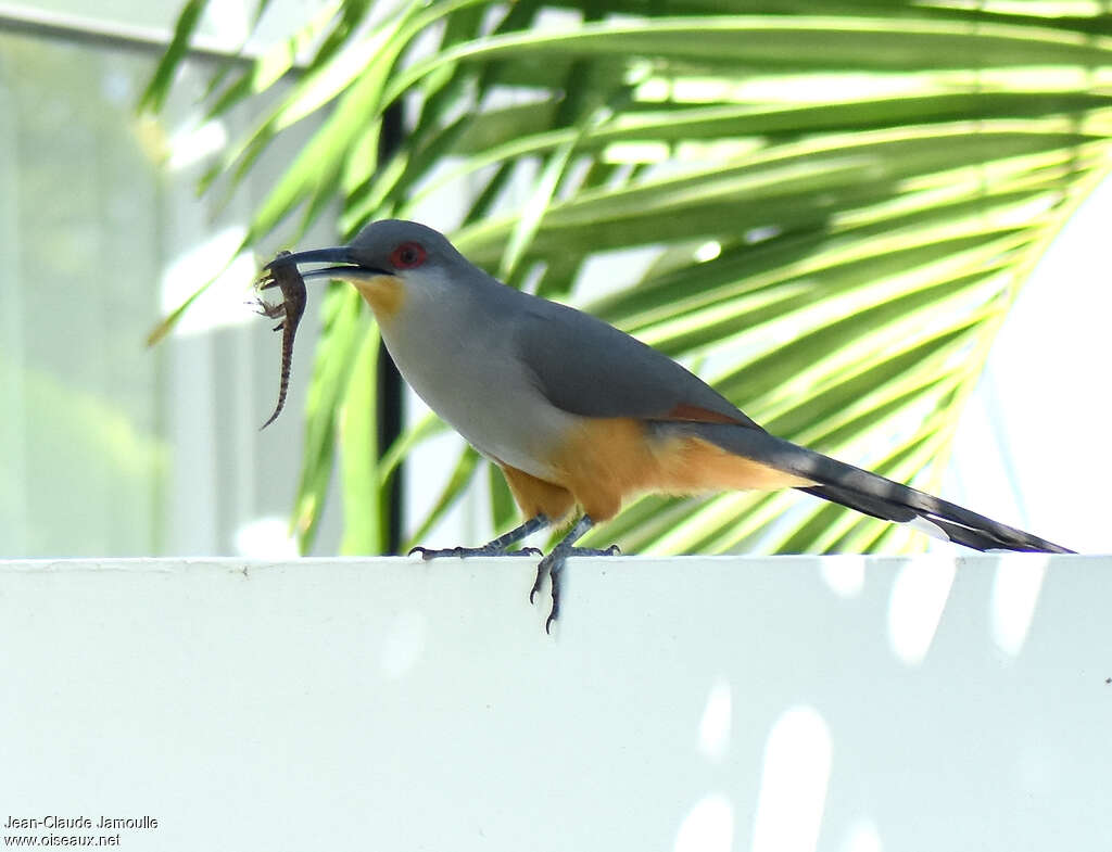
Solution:
<svg viewBox="0 0 1112 852">
<path fill-rule="evenodd" d="M 729 423 L 692 422 L 673 422 L 667 428 L 669 431 L 703 438 L 728 452 L 816 483 L 800 488 L 800 491 L 885 521 L 910 523 L 924 532 L 933 532 L 974 550 L 1073 553 L 1072 550 L 971 512 L 956 503 L 940 500 L 924 491 L 831 459 L 758 429 Z"/>
</svg>

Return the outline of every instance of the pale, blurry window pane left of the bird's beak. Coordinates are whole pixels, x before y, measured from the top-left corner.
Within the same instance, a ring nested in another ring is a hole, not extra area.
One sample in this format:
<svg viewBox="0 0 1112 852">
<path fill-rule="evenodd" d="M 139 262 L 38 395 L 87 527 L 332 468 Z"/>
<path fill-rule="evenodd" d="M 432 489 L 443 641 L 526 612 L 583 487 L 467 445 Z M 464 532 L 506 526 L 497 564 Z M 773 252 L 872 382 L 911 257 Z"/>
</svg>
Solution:
<svg viewBox="0 0 1112 852">
<path fill-rule="evenodd" d="M 214 288 L 218 311 L 195 313 L 191 331 L 159 347 L 143 343 L 180 298 L 162 291 L 202 284 L 249 210 L 235 198 L 217 217 L 198 201 L 203 158 L 160 168 L 169 131 L 133 114 L 155 61 L 0 34 L 3 557 L 234 553 L 245 525 L 285 517 L 292 501 L 315 315 L 286 411 L 261 434 L 279 341 L 244 307 L 252 259 Z M 179 92 L 200 86 L 187 71 Z M 190 106 L 171 108 L 170 129 Z M 175 157 L 190 159 L 182 152 L 205 139 L 190 137 Z M 257 199 L 286 153 L 277 146 L 240 194 Z M 335 539 L 326 524 L 319 547 Z"/>
</svg>

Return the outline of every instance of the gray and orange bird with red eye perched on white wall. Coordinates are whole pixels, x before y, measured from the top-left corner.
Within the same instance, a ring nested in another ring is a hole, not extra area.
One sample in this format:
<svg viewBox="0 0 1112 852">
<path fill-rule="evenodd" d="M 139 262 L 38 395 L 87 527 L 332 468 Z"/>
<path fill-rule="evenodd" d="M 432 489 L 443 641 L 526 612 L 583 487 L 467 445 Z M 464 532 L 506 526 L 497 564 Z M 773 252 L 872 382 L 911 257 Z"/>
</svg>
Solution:
<svg viewBox="0 0 1112 852">
<path fill-rule="evenodd" d="M 515 290 L 437 231 L 383 220 L 349 245 L 276 258 L 268 269 L 330 263 L 306 279 L 347 281 L 417 394 L 497 464 L 525 522 L 480 548 L 496 555 L 578 511 L 537 567 L 534 599 L 593 525 L 647 492 L 795 488 L 976 550 L 1070 553 L 1021 530 L 770 434 L 667 355 L 589 314 Z"/>
</svg>

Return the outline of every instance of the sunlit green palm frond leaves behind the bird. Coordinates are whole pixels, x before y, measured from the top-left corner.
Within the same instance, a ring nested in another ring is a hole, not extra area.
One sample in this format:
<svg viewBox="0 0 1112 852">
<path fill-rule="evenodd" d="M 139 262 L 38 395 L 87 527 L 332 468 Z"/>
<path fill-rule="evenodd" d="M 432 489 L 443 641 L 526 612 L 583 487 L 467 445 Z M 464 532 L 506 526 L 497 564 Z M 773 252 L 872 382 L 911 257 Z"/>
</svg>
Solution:
<svg viewBox="0 0 1112 852">
<path fill-rule="evenodd" d="M 249 242 L 334 201 L 350 235 L 468 198 L 453 238 L 476 263 L 699 364 L 785 438 L 930 488 L 1017 289 L 1109 171 L 1112 17 L 1054 0 L 734 6 L 341 3 L 220 71 L 215 116 L 319 43 L 206 186 L 236 186 L 275 138 L 322 116 Z M 146 103 L 161 102 L 197 16 L 186 7 Z M 380 159 L 397 102 L 407 133 Z M 654 259 L 626 264 L 627 280 L 605 293 L 580 281 L 588 261 L 634 248 Z M 344 547 L 373 551 L 389 477 L 437 430 L 424 421 L 376 459 L 376 343 L 355 294 L 330 291 L 296 508 L 306 545 L 337 449 Z M 465 452 L 414 527 L 479 465 Z M 649 552 L 909 547 L 792 494 L 649 498 L 597 534 L 614 538 Z"/>
</svg>

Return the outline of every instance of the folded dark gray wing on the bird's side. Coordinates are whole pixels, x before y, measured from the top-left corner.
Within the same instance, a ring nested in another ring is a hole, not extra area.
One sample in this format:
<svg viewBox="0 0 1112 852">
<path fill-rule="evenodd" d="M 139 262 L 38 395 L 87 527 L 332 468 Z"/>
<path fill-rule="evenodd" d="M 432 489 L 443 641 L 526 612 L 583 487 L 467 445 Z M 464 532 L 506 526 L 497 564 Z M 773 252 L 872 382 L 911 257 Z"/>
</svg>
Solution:
<svg viewBox="0 0 1112 852">
<path fill-rule="evenodd" d="M 517 309 L 517 352 L 564 411 L 761 428 L 697 375 L 590 314 L 536 297 Z"/>
</svg>

